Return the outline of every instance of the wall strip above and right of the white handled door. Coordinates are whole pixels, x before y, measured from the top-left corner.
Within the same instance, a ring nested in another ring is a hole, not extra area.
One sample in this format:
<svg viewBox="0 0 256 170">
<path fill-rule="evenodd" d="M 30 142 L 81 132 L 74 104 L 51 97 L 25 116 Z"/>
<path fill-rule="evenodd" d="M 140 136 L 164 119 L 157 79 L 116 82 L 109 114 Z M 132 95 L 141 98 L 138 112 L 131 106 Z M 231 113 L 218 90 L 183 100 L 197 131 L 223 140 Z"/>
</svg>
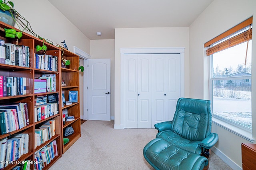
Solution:
<svg viewBox="0 0 256 170">
<path fill-rule="evenodd" d="M 102 39 L 102 40 L 91 40 L 90 41 L 90 56 L 91 59 L 111 59 L 111 106 L 110 116 L 114 119 L 114 39 Z"/>
</svg>

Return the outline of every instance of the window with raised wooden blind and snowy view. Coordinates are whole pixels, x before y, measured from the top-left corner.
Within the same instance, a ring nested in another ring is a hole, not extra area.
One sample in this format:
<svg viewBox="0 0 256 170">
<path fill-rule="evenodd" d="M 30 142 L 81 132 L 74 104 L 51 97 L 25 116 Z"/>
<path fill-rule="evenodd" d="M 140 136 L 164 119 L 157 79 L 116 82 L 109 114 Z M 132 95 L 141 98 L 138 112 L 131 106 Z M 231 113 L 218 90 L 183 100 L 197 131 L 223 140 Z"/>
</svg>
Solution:
<svg viewBox="0 0 256 170">
<path fill-rule="evenodd" d="M 231 32 L 227 31 L 228 35 L 223 33 L 226 36 L 222 34 L 208 45 L 205 44 L 211 66 L 212 115 L 248 131 L 252 129 L 250 19 L 249 23 L 244 23 L 239 29 L 232 28 Z"/>
</svg>

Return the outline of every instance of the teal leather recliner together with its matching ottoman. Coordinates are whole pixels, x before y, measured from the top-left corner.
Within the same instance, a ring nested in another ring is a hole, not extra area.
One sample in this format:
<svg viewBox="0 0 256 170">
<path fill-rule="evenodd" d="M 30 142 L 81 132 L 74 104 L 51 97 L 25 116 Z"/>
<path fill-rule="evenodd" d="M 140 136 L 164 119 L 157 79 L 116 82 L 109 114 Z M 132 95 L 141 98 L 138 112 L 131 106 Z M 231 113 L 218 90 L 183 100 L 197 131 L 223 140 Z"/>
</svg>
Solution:
<svg viewBox="0 0 256 170">
<path fill-rule="evenodd" d="M 155 124 L 158 133 L 144 147 L 144 158 L 157 170 L 202 170 L 218 141 L 211 127 L 210 100 L 180 98 L 173 120 Z"/>
</svg>

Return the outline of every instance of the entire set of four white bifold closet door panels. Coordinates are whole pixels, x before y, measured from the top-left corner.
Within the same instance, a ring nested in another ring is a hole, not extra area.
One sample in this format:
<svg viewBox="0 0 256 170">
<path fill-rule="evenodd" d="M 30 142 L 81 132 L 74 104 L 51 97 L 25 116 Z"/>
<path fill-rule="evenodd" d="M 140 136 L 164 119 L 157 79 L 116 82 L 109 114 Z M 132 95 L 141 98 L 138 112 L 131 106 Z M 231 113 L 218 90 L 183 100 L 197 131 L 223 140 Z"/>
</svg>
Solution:
<svg viewBox="0 0 256 170">
<path fill-rule="evenodd" d="M 124 127 L 154 128 L 172 120 L 180 98 L 180 54 L 125 54 L 121 66 Z"/>
</svg>

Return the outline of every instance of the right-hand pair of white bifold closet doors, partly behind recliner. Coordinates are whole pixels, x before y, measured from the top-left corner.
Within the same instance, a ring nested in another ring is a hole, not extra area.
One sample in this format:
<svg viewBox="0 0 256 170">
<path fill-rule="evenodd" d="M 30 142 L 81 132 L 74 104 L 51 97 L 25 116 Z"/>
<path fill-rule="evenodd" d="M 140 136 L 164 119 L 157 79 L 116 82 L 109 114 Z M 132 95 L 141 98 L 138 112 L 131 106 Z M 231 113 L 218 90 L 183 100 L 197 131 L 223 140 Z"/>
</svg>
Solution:
<svg viewBox="0 0 256 170">
<path fill-rule="evenodd" d="M 152 54 L 152 128 L 172 121 L 180 98 L 180 54 Z"/>
</svg>

